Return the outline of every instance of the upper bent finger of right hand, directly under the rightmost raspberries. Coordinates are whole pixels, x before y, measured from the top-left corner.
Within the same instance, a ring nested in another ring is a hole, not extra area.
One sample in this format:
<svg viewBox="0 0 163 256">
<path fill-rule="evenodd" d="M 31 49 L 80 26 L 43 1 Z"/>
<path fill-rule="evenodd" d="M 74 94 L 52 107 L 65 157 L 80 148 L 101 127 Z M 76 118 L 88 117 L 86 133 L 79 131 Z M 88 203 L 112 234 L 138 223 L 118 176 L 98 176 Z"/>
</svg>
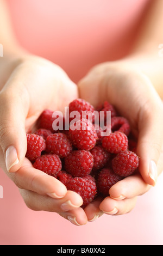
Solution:
<svg viewBox="0 0 163 256">
<path fill-rule="evenodd" d="M 151 187 L 151 185 L 146 184 L 140 174 L 135 174 L 128 176 L 113 185 L 109 190 L 109 195 L 115 200 L 129 199 L 141 196 Z"/>
</svg>

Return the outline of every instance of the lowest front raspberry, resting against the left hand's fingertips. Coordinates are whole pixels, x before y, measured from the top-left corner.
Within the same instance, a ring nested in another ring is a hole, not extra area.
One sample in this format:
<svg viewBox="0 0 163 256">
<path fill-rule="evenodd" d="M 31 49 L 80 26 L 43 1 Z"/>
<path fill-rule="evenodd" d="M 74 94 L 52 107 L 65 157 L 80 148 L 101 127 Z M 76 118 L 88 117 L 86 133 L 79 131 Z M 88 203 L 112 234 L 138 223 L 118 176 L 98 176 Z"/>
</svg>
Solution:
<svg viewBox="0 0 163 256">
<path fill-rule="evenodd" d="M 96 183 L 90 179 L 76 177 L 67 182 L 67 190 L 78 193 L 83 199 L 83 206 L 93 201 L 97 193 Z"/>
</svg>

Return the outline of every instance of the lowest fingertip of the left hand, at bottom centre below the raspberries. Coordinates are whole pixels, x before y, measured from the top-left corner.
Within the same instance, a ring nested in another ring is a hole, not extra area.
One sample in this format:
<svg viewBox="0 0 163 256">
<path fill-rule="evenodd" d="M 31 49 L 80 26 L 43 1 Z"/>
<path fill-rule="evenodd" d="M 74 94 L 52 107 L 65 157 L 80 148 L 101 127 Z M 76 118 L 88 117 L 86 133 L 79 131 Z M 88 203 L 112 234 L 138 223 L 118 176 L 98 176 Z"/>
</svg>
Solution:
<svg viewBox="0 0 163 256">
<path fill-rule="evenodd" d="M 87 223 L 87 216 L 81 207 L 67 212 L 60 212 L 59 215 L 74 225 L 80 226 Z"/>
</svg>

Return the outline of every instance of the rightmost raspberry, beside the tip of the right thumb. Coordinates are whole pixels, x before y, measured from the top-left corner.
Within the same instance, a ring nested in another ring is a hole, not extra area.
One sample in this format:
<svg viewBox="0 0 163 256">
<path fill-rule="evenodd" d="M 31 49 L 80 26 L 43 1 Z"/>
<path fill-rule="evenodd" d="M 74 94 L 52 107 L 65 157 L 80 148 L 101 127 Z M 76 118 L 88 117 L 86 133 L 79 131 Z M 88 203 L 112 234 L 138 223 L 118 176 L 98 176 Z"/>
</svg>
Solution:
<svg viewBox="0 0 163 256">
<path fill-rule="evenodd" d="M 139 166 L 139 157 L 132 151 L 119 153 L 112 159 L 112 169 L 120 176 L 126 177 L 134 173 Z"/>
</svg>

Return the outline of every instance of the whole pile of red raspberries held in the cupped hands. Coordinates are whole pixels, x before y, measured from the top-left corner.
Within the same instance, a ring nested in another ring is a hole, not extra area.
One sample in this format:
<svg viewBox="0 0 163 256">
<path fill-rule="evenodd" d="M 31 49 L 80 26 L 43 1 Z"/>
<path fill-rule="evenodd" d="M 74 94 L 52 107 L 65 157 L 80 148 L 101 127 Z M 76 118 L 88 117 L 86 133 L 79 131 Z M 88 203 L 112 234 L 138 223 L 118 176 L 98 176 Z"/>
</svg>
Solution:
<svg viewBox="0 0 163 256">
<path fill-rule="evenodd" d="M 69 117 L 73 111 L 80 113 L 80 119 L 69 118 L 67 130 L 62 115 L 54 117 L 55 111 L 43 111 L 37 130 L 27 133 L 26 157 L 34 168 L 54 176 L 67 190 L 80 194 L 84 207 L 99 195 L 109 196 L 111 186 L 137 170 L 139 157 L 129 121 L 108 101 L 95 109 L 89 102 L 76 99 L 69 105 Z M 105 123 L 110 111 L 109 134 L 104 136 L 102 127 L 83 118 L 83 111 L 96 111 L 99 117 L 102 111 Z M 57 126 L 56 120 L 61 121 L 62 127 Z"/>
</svg>

